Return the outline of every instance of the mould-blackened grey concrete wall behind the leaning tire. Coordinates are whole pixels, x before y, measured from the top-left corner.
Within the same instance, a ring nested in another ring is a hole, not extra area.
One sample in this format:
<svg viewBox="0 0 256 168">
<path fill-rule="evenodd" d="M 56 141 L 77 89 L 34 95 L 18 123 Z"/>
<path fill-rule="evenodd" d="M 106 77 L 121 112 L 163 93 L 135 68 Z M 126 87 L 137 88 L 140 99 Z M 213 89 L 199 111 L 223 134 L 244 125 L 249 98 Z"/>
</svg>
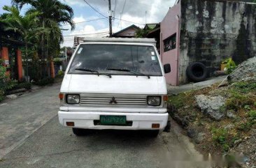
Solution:
<svg viewBox="0 0 256 168">
<path fill-rule="evenodd" d="M 226 58 L 241 63 L 255 56 L 255 8 L 237 2 L 181 0 L 179 82 L 187 82 L 185 71 L 191 62 L 204 63 L 211 76 Z"/>
</svg>

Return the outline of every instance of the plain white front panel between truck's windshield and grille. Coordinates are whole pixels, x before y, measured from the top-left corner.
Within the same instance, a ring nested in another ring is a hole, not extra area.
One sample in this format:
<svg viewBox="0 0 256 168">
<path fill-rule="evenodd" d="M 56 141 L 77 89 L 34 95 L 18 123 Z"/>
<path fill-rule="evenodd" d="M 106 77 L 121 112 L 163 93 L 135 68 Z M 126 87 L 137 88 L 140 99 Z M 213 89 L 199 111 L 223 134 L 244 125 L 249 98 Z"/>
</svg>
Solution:
<svg viewBox="0 0 256 168">
<path fill-rule="evenodd" d="M 164 77 L 127 75 L 71 75 L 66 74 L 61 92 L 69 93 L 113 93 L 113 94 L 166 94 Z"/>
</svg>

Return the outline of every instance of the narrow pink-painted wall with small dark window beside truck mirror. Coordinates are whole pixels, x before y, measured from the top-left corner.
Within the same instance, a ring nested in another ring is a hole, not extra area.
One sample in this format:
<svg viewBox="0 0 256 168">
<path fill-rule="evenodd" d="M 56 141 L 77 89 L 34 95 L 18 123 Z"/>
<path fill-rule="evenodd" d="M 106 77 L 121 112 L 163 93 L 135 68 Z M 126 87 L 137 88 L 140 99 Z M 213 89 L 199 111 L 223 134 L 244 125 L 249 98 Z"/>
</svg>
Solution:
<svg viewBox="0 0 256 168">
<path fill-rule="evenodd" d="M 180 35 L 180 3 L 173 6 L 166 16 L 164 20 L 161 22 L 161 33 L 160 33 L 160 55 L 162 59 L 162 63 L 170 63 L 171 64 L 171 72 L 166 74 L 166 82 L 171 85 L 178 85 L 178 52 L 180 43 L 179 43 L 179 35 Z M 168 52 L 164 52 L 164 40 L 169 38 L 173 34 L 176 33 L 176 49 L 171 49 Z"/>
</svg>

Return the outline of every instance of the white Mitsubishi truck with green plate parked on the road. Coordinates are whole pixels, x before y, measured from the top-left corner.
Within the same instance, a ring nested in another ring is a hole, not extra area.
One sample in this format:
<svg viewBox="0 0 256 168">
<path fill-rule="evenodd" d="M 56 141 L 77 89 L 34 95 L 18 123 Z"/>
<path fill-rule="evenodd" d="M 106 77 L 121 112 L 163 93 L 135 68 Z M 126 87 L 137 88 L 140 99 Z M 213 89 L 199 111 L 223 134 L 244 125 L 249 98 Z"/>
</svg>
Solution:
<svg viewBox="0 0 256 168">
<path fill-rule="evenodd" d="M 168 120 L 167 90 L 154 39 L 87 38 L 73 53 L 59 93 L 59 123 L 87 130 L 150 130 Z"/>
</svg>

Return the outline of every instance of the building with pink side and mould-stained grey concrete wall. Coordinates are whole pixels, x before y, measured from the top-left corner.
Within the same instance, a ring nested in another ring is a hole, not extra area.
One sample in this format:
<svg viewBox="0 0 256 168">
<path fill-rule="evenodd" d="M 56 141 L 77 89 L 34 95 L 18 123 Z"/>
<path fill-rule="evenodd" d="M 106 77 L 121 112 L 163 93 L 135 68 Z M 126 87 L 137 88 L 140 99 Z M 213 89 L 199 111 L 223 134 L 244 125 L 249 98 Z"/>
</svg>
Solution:
<svg viewBox="0 0 256 168">
<path fill-rule="evenodd" d="M 171 64 L 168 84 L 199 82 L 232 57 L 238 64 L 256 54 L 255 3 L 179 0 L 160 26 L 162 63 Z"/>
</svg>

